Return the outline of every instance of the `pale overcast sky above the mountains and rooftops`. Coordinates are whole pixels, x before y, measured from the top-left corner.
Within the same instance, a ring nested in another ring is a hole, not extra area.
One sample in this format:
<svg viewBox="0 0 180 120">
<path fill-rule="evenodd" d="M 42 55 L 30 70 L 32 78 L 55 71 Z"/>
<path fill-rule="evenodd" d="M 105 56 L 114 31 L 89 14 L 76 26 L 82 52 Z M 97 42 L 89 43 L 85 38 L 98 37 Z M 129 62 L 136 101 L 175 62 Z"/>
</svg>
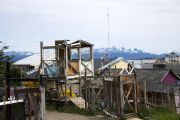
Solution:
<svg viewBox="0 0 180 120">
<path fill-rule="evenodd" d="M 39 52 L 40 41 L 86 40 L 95 48 L 180 51 L 179 0 L 0 0 L 0 41 Z"/>
</svg>

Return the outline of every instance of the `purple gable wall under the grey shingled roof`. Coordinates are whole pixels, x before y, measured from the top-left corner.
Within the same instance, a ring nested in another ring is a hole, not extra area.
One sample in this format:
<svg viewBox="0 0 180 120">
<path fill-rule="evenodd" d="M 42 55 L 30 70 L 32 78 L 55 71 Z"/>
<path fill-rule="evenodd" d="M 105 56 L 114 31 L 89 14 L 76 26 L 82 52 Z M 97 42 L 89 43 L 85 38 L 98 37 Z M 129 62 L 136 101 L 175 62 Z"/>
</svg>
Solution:
<svg viewBox="0 0 180 120">
<path fill-rule="evenodd" d="M 165 84 L 176 84 L 176 80 L 177 80 L 177 77 L 172 74 L 171 72 L 169 72 L 165 77 L 164 79 L 162 80 L 162 83 L 165 83 Z"/>
</svg>

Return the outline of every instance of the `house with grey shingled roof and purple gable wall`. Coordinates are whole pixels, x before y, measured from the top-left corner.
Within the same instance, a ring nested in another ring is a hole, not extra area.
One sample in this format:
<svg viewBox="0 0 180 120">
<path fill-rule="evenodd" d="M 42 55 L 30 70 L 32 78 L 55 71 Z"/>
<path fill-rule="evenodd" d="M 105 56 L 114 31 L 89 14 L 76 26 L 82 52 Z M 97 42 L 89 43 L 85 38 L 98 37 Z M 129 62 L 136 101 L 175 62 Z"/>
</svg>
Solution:
<svg viewBox="0 0 180 120">
<path fill-rule="evenodd" d="M 180 77 L 172 70 L 135 70 L 138 84 L 146 92 L 147 102 L 153 105 L 168 106 L 180 113 Z"/>
</svg>

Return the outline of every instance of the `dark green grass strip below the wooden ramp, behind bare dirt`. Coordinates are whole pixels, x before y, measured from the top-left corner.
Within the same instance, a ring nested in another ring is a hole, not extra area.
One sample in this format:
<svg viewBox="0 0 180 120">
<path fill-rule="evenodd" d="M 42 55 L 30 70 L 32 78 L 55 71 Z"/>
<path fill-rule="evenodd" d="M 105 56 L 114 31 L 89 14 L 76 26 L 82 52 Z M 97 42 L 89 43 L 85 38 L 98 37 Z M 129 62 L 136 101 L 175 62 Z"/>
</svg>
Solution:
<svg viewBox="0 0 180 120">
<path fill-rule="evenodd" d="M 46 105 L 47 110 L 50 111 L 58 111 L 64 113 L 73 113 L 73 114 L 80 114 L 85 116 L 94 116 L 95 113 L 92 111 L 85 111 L 85 109 L 80 109 L 75 106 L 72 102 L 68 102 L 67 104 L 58 104 L 55 102 L 48 103 Z"/>
</svg>

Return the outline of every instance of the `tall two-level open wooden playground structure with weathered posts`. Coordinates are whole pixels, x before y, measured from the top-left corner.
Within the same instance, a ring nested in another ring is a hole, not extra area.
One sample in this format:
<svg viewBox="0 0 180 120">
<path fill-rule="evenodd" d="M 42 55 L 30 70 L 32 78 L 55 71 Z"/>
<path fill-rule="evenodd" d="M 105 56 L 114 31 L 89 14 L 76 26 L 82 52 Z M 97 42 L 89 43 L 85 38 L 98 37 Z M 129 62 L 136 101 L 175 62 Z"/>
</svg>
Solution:
<svg viewBox="0 0 180 120">
<path fill-rule="evenodd" d="M 81 96 L 85 69 L 88 77 L 94 76 L 93 44 L 57 40 L 54 46 L 44 46 L 41 42 L 39 72 L 46 76 L 47 100 L 67 102 L 68 97 Z"/>
</svg>

